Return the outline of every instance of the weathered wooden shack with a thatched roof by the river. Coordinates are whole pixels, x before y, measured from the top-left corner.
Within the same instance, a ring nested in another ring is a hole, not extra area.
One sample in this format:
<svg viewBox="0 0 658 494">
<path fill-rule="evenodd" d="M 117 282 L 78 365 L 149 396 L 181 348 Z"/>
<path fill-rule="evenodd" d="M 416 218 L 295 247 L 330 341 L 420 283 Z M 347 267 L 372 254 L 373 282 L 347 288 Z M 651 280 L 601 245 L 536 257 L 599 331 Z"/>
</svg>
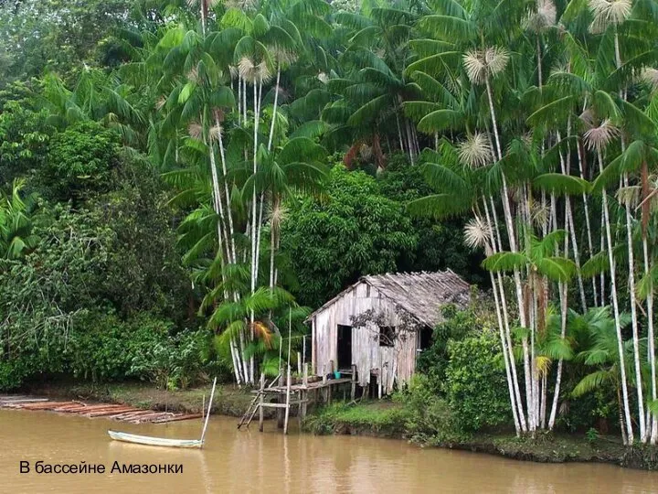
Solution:
<svg viewBox="0 0 658 494">
<path fill-rule="evenodd" d="M 312 328 L 316 374 L 356 368 L 358 384 L 380 393 L 408 381 L 430 346 L 441 306 L 466 306 L 471 290 L 451 270 L 363 276 L 317 309 Z"/>
</svg>

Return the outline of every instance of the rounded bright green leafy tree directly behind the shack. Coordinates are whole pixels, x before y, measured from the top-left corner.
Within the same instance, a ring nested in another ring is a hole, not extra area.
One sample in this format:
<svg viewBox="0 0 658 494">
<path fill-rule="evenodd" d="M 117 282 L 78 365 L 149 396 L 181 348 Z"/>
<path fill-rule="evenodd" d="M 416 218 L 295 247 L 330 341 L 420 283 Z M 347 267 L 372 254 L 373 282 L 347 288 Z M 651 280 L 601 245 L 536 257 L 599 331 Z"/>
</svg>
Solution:
<svg viewBox="0 0 658 494">
<path fill-rule="evenodd" d="M 334 166 L 324 195 L 293 204 L 281 249 L 299 281 L 300 301 L 320 306 L 363 273 L 395 272 L 418 243 L 404 206 L 363 172 Z"/>
</svg>

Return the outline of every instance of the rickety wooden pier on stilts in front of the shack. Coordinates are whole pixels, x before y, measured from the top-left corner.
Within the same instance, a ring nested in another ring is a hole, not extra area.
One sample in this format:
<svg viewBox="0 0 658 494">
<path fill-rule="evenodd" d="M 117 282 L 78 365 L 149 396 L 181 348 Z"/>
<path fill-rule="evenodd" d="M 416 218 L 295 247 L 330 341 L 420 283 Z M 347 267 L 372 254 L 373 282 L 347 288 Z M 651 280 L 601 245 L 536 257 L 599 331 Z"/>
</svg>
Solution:
<svg viewBox="0 0 658 494">
<path fill-rule="evenodd" d="M 332 362 L 333 363 L 333 362 Z M 333 367 L 333 366 L 332 366 Z M 345 373 L 341 371 L 341 374 Z M 264 411 L 266 408 L 275 408 L 277 410 L 277 425 L 283 428 L 283 434 L 288 434 L 288 423 L 292 407 L 297 407 L 297 417 L 300 424 L 306 416 L 308 403 L 331 403 L 332 389 L 334 386 L 351 383 L 351 398 L 355 399 L 356 394 L 356 369 L 352 366 L 349 372 L 350 377 L 327 379 L 327 374 L 323 376 L 308 375 L 308 364 L 303 365 L 302 382 L 292 383 L 291 367 L 288 366 L 286 378 L 284 381 L 283 370 L 271 381 L 270 385 L 265 385 L 265 374 L 260 374 L 260 388 L 254 390 L 254 398 L 249 404 L 247 412 L 242 415 L 238 428 L 249 424 L 259 413 L 259 430 L 263 431 Z"/>
</svg>

